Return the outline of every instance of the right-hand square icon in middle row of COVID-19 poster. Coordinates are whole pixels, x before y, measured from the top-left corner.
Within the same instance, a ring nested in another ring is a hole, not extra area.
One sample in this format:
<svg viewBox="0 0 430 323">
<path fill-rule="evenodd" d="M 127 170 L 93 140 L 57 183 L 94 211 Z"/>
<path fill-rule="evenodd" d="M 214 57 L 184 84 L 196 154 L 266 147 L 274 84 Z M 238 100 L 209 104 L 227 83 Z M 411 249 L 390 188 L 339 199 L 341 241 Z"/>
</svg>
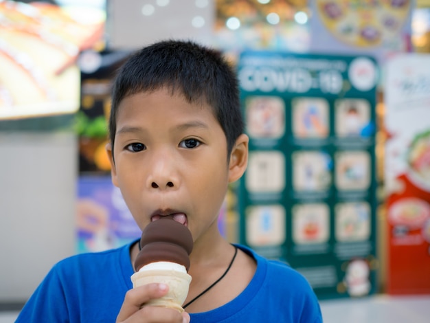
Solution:
<svg viewBox="0 0 430 323">
<path fill-rule="evenodd" d="M 343 151 L 335 155 L 336 186 L 339 190 L 367 190 L 370 186 L 370 155 Z"/>
</svg>

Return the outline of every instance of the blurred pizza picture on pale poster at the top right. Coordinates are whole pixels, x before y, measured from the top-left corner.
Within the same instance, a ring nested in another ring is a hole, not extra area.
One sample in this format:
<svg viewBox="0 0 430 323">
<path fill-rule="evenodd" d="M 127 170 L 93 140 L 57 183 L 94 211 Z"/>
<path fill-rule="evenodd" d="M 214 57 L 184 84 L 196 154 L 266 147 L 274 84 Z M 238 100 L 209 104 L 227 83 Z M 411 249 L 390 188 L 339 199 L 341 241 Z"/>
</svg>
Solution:
<svg viewBox="0 0 430 323">
<path fill-rule="evenodd" d="M 414 0 L 308 1 L 310 50 L 374 56 L 381 65 L 393 54 L 411 51 Z"/>
</svg>

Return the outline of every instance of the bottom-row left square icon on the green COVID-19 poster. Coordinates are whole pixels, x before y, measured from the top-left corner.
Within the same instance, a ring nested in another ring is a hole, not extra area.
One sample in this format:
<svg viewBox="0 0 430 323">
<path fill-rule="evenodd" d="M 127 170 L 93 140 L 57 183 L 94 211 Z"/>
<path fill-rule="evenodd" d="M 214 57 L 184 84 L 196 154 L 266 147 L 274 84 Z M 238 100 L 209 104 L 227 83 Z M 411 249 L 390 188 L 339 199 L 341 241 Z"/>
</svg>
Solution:
<svg viewBox="0 0 430 323">
<path fill-rule="evenodd" d="M 285 209 L 282 205 L 247 208 L 247 243 L 253 246 L 282 245 L 285 241 Z"/>
</svg>

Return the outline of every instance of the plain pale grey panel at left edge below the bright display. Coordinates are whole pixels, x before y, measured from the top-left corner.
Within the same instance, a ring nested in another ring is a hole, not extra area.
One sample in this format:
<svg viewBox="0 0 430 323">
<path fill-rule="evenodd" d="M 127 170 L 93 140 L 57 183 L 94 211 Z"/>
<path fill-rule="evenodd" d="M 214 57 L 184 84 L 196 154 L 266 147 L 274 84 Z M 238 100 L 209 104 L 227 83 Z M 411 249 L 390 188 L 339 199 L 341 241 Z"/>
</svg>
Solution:
<svg viewBox="0 0 430 323">
<path fill-rule="evenodd" d="M 74 133 L 0 132 L 0 303 L 75 253 L 77 150 Z"/>
</svg>

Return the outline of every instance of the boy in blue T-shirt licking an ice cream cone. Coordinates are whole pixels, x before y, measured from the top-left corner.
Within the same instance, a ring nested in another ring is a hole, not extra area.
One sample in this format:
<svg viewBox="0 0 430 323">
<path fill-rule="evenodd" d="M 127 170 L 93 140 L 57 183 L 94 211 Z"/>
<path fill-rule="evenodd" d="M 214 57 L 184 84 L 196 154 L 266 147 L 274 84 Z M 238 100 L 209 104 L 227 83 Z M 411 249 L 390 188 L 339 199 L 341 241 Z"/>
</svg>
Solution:
<svg viewBox="0 0 430 323">
<path fill-rule="evenodd" d="M 227 186 L 248 158 L 238 82 L 218 52 L 162 41 L 131 56 L 113 85 L 109 130 L 112 180 L 137 225 L 170 216 L 192 232 L 185 312 L 145 306 L 164 285 L 132 289 L 135 241 L 55 265 L 17 322 L 322 322 L 301 275 L 218 232 Z"/>
</svg>

